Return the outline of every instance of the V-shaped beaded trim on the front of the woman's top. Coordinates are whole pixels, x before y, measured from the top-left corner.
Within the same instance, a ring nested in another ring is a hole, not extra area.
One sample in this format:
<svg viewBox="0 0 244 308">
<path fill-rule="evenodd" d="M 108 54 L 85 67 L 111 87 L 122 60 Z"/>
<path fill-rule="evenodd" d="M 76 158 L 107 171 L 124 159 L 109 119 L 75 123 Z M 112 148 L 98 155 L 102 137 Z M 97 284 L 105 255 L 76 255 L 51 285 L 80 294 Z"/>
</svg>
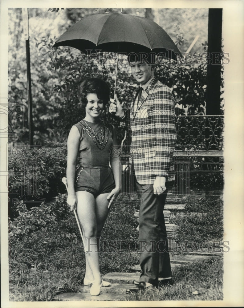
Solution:
<svg viewBox="0 0 244 308">
<path fill-rule="evenodd" d="M 84 120 L 81 120 L 79 122 L 81 127 L 83 128 L 84 132 L 87 133 L 87 135 L 92 139 L 92 141 L 96 144 L 96 147 L 102 151 L 108 141 L 108 125 L 107 123 L 104 122 L 104 120 L 101 121 L 101 126 L 100 126 L 100 136 L 94 131 L 91 126 L 85 122 Z M 106 139 L 105 139 L 106 136 Z"/>
</svg>

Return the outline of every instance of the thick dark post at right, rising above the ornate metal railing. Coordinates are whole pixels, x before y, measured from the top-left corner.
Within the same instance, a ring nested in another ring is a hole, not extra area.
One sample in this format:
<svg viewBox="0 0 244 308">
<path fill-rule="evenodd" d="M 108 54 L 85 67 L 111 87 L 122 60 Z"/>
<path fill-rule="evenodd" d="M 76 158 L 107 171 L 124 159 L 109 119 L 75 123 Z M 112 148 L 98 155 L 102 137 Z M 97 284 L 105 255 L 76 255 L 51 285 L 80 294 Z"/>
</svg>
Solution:
<svg viewBox="0 0 244 308">
<path fill-rule="evenodd" d="M 209 9 L 206 115 L 220 114 L 222 9 Z"/>
</svg>

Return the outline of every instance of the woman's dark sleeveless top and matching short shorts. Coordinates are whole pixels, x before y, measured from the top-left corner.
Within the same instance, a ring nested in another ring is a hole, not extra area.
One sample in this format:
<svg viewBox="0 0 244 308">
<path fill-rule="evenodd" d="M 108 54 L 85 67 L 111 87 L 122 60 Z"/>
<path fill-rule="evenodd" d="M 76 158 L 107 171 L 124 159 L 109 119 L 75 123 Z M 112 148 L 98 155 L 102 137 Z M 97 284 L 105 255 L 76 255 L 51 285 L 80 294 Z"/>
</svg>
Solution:
<svg viewBox="0 0 244 308">
<path fill-rule="evenodd" d="M 110 193 L 115 188 L 114 177 L 109 166 L 113 140 L 116 140 L 114 127 L 107 122 L 91 123 L 85 120 L 74 126 L 78 128 L 80 134 L 75 192 L 87 191 L 94 197 L 102 193 Z"/>
</svg>

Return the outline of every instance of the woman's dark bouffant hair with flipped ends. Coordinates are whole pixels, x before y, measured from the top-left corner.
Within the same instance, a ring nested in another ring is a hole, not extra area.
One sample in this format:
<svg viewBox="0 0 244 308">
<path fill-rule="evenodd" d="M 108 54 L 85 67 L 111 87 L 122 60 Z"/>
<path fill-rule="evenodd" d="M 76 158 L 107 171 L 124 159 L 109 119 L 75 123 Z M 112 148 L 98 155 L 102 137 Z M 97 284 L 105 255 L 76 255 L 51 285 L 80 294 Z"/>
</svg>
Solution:
<svg viewBox="0 0 244 308">
<path fill-rule="evenodd" d="M 83 107 L 87 105 L 87 94 L 89 93 L 96 94 L 105 106 L 109 101 L 110 88 L 108 83 L 100 78 L 89 78 L 83 81 L 78 88 L 79 102 Z"/>
</svg>

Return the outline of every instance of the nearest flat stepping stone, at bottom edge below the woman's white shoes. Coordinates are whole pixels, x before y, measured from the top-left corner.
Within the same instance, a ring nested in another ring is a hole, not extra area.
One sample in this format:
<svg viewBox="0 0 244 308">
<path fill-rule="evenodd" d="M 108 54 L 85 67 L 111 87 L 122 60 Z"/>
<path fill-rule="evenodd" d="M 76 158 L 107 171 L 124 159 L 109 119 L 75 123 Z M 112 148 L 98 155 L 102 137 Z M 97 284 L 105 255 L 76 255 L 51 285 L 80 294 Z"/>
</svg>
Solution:
<svg viewBox="0 0 244 308">
<path fill-rule="evenodd" d="M 103 293 L 98 296 L 92 296 L 90 293 L 61 293 L 56 295 L 53 300 L 59 301 L 123 301 L 130 295 L 125 292 L 122 294 Z"/>
</svg>

